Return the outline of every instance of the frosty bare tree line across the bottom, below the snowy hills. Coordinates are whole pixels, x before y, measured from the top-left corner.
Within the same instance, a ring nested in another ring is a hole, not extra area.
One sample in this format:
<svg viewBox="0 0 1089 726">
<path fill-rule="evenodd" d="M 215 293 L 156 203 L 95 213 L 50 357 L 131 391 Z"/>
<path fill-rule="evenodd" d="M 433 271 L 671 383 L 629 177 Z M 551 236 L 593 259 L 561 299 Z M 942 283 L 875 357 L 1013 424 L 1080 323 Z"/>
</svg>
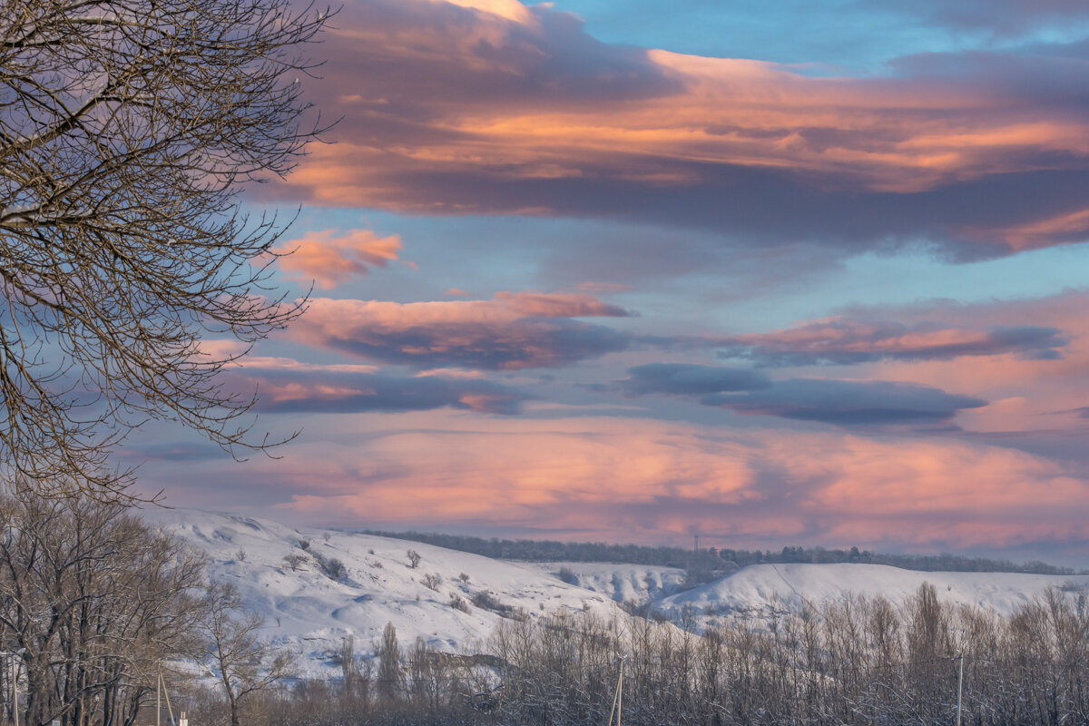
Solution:
<svg viewBox="0 0 1089 726">
<path fill-rule="evenodd" d="M 1002 616 L 923 585 L 883 598 L 783 606 L 697 632 L 590 612 L 504 619 L 482 655 L 387 627 L 343 677 L 264 702 L 269 726 L 603 724 L 623 668 L 632 726 L 1060 726 L 1089 722 L 1089 601 L 1059 589 Z M 962 660 L 963 659 L 963 660 Z M 963 666 L 963 684 L 959 670 Z"/>
</svg>

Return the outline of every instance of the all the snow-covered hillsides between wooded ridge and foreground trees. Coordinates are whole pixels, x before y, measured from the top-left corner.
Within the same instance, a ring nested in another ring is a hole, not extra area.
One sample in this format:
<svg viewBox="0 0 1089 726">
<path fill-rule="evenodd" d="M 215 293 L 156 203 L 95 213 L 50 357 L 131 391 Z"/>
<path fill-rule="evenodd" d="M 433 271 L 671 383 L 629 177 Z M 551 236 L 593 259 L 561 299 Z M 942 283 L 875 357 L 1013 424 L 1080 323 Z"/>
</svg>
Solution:
<svg viewBox="0 0 1089 726">
<path fill-rule="evenodd" d="M 233 582 L 248 606 L 266 616 L 267 636 L 297 649 L 303 675 L 313 676 L 333 675 L 330 655 L 345 636 L 354 637 L 357 653 L 372 651 L 387 623 L 396 627 L 402 644 L 421 637 L 440 650 L 481 652 L 503 617 L 501 611 L 539 617 L 561 608 L 589 610 L 612 618 L 624 617 L 619 602 L 635 601 L 674 616 L 687 607 L 707 623 L 760 617 L 784 601 L 819 604 L 851 594 L 881 594 L 898 604 L 930 582 L 945 601 L 1010 614 L 1049 586 L 1089 587 L 1089 576 L 752 565 L 678 592 L 684 571 L 670 567 L 512 563 L 406 540 L 293 529 L 194 509 L 152 509 L 144 516 L 204 551 L 211 577 Z M 409 550 L 419 555 L 415 567 Z M 320 563 L 333 559 L 343 563 L 343 577 L 333 579 L 322 571 Z M 560 579 L 563 568 L 571 570 L 574 585 Z M 472 604 L 474 596 L 487 600 L 486 606 Z M 467 607 L 452 606 L 453 598 Z"/>
</svg>

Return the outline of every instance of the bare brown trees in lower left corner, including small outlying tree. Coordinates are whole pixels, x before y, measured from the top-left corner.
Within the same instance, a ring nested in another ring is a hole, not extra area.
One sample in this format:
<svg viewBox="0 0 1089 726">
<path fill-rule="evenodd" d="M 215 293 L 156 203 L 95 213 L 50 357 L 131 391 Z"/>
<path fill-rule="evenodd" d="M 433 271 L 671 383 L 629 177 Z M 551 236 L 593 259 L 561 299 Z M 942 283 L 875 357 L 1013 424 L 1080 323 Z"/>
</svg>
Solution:
<svg viewBox="0 0 1089 726">
<path fill-rule="evenodd" d="M 0 496 L 0 693 L 27 726 L 134 726 L 171 682 L 212 676 L 238 726 L 292 656 L 204 555 L 88 497 Z M 154 717 L 154 716 L 152 716 Z M 146 723 L 143 722 L 143 723 Z"/>
</svg>

